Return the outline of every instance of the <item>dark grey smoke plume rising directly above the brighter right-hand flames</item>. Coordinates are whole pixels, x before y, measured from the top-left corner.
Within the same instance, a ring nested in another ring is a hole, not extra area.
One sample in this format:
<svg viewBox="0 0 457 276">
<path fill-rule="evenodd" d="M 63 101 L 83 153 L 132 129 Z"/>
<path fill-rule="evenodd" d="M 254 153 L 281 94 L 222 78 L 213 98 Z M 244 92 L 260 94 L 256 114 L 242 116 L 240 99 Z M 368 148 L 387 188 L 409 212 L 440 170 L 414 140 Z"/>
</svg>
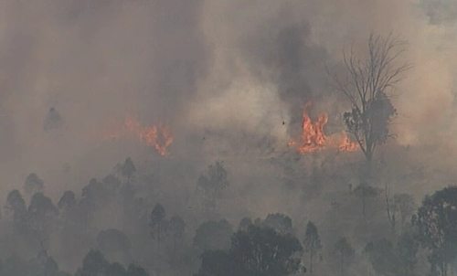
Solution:
<svg viewBox="0 0 457 276">
<path fill-rule="evenodd" d="M 314 46 L 306 20 L 287 22 L 285 16 L 288 13 L 282 12 L 266 20 L 246 34 L 240 47 L 244 48 L 250 69 L 277 85 L 280 99 L 291 105 L 297 120 L 304 103 L 317 100 L 322 92 L 313 90 L 308 82 L 309 73 L 324 63 L 326 53 L 324 48 Z"/>
</svg>

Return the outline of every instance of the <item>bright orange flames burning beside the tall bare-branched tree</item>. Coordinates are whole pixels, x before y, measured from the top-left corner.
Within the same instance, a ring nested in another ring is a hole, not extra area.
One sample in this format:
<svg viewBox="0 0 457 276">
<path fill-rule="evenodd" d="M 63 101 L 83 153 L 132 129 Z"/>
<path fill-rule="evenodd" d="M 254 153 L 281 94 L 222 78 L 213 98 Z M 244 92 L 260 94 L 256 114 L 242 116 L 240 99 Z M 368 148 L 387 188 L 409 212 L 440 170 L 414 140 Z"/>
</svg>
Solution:
<svg viewBox="0 0 457 276">
<path fill-rule="evenodd" d="M 311 101 L 306 102 L 304 105 L 302 135 L 300 140 L 291 140 L 288 143 L 289 146 L 296 146 L 297 151 L 300 154 L 315 153 L 328 147 L 336 147 L 342 152 L 354 152 L 358 149 L 358 144 L 349 140 L 345 132 L 340 135 L 325 135 L 324 125 L 328 122 L 328 115 L 322 113 L 317 116 L 317 121 L 313 122 L 306 111 L 310 106 Z"/>
</svg>

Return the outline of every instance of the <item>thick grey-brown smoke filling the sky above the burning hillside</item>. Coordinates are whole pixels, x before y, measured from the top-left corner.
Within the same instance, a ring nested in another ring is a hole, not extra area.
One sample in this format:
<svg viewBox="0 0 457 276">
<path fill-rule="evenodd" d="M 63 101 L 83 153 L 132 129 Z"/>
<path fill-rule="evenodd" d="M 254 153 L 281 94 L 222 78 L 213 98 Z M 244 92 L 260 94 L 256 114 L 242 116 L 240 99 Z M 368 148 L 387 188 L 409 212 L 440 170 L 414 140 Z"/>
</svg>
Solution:
<svg viewBox="0 0 457 276">
<path fill-rule="evenodd" d="M 75 182 L 86 181 L 111 160 L 143 156 L 142 145 L 83 139 L 128 114 L 169 122 L 172 156 L 201 164 L 287 151 L 308 100 L 312 115 L 329 113 L 328 133 L 341 131 L 347 104 L 327 86 L 324 66 L 340 64 L 351 44 L 362 55 L 370 32 L 404 37 L 415 65 L 395 99 L 396 143 L 454 148 L 450 24 L 430 25 L 430 8 L 412 0 L 337 2 L 2 1 L 0 138 L 9 181 L 30 171 L 47 178 L 67 164 Z M 65 120 L 63 135 L 43 132 L 51 107 Z"/>
</svg>

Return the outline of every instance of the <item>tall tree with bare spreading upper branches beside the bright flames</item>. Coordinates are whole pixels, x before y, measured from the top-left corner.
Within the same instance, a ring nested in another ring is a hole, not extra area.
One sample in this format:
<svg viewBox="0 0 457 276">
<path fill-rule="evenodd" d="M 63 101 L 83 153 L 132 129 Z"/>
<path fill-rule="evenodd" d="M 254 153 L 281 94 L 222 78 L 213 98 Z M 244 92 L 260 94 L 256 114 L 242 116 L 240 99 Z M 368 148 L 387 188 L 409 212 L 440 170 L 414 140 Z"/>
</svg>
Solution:
<svg viewBox="0 0 457 276">
<path fill-rule="evenodd" d="M 404 41 L 391 33 L 385 38 L 371 34 L 367 58 L 357 58 L 352 47 L 349 55 L 344 51 L 344 78 L 327 69 L 333 88 L 343 93 L 351 104 L 351 111 L 344 114 L 345 127 L 356 138 L 368 163 L 377 145 L 393 136 L 388 123 L 397 111 L 390 99 L 403 73 L 412 67 L 409 62 L 397 63 L 405 46 Z"/>
</svg>

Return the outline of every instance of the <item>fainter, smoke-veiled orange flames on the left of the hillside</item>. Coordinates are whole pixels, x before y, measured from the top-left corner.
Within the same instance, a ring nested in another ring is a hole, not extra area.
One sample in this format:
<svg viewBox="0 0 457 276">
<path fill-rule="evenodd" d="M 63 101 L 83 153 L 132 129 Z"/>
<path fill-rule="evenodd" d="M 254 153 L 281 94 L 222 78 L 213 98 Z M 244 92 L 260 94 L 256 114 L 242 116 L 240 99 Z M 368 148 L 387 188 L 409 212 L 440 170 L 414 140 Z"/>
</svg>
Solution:
<svg viewBox="0 0 457 276">
<path fill-rule="evenodd" d="M 127 116 L 123 124 L 111 124 L 106 129 L 101 129 L 91 133 L 90 136 L 95 136 L 100 140 L 109 140 L 122 137 L 131 137 L 145 143 L 149 146 L 154 146 L 157 154 L 162 156 L 169 154 L 168 146 L 173 143 L 173 136 L 170 133 L 170 128 L 165 125 L 143 126 L 136 117 Z"/>
</svg>

